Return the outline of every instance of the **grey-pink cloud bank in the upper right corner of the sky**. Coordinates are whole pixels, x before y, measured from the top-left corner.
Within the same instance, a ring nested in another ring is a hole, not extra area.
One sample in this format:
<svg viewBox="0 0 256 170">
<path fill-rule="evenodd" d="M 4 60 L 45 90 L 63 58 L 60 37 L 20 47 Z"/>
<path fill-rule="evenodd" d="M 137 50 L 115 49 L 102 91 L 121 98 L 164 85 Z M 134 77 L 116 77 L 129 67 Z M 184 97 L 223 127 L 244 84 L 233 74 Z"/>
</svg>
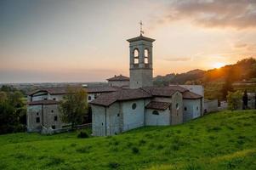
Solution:
<svg viewBox="0 0 256 170">
<path fill-rule="evenodd" d="M 157 19 L 159 20 L 159 19 Z M 255 0 L 177 0 L 163 18 L 166 22 L 191 20 L 204 27 L 256 28 Z"/>
</svg>

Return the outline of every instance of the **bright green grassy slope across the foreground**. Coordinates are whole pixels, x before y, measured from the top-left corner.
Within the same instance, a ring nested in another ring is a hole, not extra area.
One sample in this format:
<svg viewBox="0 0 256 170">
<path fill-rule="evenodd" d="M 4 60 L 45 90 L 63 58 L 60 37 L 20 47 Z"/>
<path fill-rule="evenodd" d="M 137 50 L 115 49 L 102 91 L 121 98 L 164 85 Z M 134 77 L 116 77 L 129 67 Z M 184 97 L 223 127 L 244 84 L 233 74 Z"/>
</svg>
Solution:
<svg viewBox="0 0 256 170">
<path fill-rule="evenodd" d="M 223 111 L 113 137 L 0 136 L 0 169 L 256 169 L 256 111 Z"/>
</svg>

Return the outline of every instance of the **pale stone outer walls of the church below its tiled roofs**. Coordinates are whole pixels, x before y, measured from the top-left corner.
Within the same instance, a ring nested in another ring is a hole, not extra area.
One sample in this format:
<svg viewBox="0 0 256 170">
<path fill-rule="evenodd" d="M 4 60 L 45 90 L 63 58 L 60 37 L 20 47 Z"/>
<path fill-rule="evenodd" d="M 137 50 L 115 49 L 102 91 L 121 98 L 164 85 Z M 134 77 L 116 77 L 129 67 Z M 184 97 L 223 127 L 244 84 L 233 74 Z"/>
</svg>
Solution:
<svg viewBox="0 0 256 170">
<path fill-rule="evenodd" d="M 145 106 L 151 101 L 172 102 L 172 105 L 164 110 L 146 109 Z M 137 127 L 180 124 L 184 122 L 184 101 L 182 94 L 176 92 L 171 97 L 117 101 L 110 106 L 92 105 L 93 135 L 114 135 Z M 195 104 L 199 102 L 200 106 L 200 101 L 201 99 L 197 99 L 194 102 Z M 198 115 L 194 111 L 195 106 L 187 105 L 187 107 L 191 107 L 190 118 L 195 118 Z"/>
</svg>

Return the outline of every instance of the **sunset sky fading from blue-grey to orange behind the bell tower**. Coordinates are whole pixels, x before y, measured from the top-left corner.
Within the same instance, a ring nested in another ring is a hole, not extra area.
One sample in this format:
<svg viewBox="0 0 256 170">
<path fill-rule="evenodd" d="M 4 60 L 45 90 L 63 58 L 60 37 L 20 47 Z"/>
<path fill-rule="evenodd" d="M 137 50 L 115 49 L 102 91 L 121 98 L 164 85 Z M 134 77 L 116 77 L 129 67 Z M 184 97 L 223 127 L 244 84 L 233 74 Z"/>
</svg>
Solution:
<svg viewBox="0 0 256 170">
<path fill-rule="evenodd" d="M 140 20 L 154 76 L 256 57 L 255 0 L 1 0 L 0 83 L 128 76 Z"/>
</svg>

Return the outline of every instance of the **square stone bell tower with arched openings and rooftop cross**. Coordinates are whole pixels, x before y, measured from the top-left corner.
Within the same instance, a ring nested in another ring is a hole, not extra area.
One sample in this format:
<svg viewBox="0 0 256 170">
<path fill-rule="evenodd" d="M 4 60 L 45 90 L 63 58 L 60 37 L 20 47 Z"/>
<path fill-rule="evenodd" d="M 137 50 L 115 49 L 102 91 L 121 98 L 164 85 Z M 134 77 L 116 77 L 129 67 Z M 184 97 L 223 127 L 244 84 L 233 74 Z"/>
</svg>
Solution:
<svg viewBox="0 0 256 170">
<path fill-rule="evenodd" d="M 139 37 L 127 40 L 130 48 L 130 88 L 153 85 L 152 42 L 155 40 L 144 37 L 142 33 L 140 27 Z"/>
</svg>

